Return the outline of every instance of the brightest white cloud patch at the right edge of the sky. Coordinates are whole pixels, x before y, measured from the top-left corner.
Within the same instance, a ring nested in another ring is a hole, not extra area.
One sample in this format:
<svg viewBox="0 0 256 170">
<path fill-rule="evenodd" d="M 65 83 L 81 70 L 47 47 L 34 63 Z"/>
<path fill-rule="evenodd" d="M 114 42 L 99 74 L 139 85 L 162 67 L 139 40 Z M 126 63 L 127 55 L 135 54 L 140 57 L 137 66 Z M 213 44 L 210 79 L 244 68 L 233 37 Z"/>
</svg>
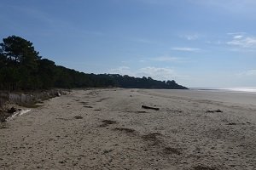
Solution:
<svg viewBox="0 0 256 170">
<path fill-rule="evenodd" d="M 233 45 L 240 48 L 256 48 L 256 37 L 244 37 L 242 35 L 236 35 L 228 45 Z"/>
</svg>

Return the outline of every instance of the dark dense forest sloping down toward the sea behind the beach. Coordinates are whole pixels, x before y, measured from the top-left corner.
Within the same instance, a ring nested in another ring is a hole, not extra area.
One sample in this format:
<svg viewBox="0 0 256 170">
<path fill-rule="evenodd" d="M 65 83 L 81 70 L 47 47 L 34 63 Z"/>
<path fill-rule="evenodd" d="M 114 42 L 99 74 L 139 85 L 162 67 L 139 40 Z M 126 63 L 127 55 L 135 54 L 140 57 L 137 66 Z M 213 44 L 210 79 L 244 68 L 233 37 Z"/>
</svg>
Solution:
<svg viewBox="0 0 256 170">
<path fill-rule="evenodd" d="M 0 43 L 0 90 L 35 90 L 48 88 L 167 88 L 185 89 L 175 81 L 157 81 L 151 77 L 118 74 L 86 74 L 55 65 L 44 59 L 22 37 L 10 36 Z"/>
</svg>

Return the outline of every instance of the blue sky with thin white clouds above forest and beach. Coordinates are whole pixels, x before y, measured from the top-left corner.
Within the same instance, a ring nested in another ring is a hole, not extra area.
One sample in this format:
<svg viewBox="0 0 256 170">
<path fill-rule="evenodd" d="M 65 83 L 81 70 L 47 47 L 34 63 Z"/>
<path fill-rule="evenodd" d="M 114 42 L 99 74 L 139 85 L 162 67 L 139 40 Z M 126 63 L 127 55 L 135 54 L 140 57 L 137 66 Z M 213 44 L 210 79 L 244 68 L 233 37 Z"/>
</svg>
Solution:
<svg viewBox="0 0 256 170">
<path fill-rule="evenodd" d="M 0 39 L 86 73 L 256 87 L 255 0 L 0 0 Z"/>
</svg>

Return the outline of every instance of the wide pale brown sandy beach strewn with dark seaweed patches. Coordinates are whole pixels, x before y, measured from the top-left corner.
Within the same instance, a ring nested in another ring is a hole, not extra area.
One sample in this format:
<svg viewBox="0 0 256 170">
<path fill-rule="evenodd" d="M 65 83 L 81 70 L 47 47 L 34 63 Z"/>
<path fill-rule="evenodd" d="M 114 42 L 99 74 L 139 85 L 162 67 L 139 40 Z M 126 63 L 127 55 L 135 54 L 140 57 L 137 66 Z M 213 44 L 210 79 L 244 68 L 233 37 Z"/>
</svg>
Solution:
<svg viewBox="0 0 256 170">
<path fill-rule="evenodd" d="M 255 94 L 73 90 L 0 124 L 0 169 L 253 170 L 246 99 Z"/>
</svg>

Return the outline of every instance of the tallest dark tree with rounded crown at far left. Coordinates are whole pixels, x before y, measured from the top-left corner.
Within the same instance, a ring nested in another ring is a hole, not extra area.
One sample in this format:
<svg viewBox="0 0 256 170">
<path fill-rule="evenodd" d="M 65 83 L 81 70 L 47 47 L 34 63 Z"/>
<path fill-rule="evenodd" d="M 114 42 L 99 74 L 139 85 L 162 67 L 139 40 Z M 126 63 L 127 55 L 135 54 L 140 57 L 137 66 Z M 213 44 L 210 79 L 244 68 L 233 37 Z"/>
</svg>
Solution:
<svg viewBox="0 0 256 170">
<path fill-rule="evenodd" d="M 3 38 L 0 43 L 0 55 L 7 68 L 1 68 L 6 72 L 4 83 L 8 89 L 15 88 L 37 88 L 38 52 L 32 46 L 32 42 L 21 37 L 10 36 Z M 3 64 L 1 64 L 3 65 Z"/>
</svg>

